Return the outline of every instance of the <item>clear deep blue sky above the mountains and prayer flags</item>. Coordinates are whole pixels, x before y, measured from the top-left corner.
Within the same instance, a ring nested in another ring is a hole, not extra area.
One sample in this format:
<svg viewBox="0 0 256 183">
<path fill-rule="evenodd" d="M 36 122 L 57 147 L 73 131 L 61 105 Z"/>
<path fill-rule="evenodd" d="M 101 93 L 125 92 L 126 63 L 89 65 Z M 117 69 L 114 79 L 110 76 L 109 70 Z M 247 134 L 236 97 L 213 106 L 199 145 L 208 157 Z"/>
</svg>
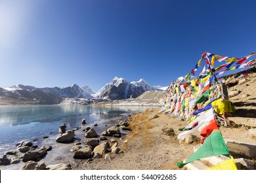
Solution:
<svg viewBox="0 0 256 183">
<path fill-rule="evenodd" d="M 256 1 L 1 0 L 0 86 L 169 86 L 203 52 L 256 52 Z"/>
</svg>

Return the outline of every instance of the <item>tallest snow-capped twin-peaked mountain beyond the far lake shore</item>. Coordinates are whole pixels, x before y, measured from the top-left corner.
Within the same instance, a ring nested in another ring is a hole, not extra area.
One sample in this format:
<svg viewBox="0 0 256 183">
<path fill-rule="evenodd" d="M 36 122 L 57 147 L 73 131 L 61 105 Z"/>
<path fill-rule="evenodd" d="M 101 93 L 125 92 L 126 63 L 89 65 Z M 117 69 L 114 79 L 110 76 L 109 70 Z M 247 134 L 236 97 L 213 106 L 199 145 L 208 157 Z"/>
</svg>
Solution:
<svg viewBox="0 0 256 183">
<path fill-rule="evenodd" d="M 150 86 L 145 80 L 127 82 L 124 78 L 115 77 L 110 83 L 102 87 L 95 95 L 98 99 L 120 100 L 139 97 L 146 91 L 158 90 Z"/>
</svg>

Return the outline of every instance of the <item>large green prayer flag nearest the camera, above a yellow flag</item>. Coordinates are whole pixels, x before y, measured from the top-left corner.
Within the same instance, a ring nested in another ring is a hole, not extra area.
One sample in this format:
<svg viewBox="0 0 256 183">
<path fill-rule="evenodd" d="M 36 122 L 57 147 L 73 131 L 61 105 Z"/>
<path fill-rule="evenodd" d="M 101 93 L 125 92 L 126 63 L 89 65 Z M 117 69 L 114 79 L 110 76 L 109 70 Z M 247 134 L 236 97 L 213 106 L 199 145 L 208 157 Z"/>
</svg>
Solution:
<svg viewBox="0 0 256 183">
<path fill-rule="evenodd" d="M 179 161 L 177 162 L 177 165 L 179 168 L 182 168 L 184 165 L 192 161 L 211 156 L 219 156 L 221 154 L 230 154 L 230 152 L 224 142 L 221 131 L 217 131 L 209 135 L 209 137 L 207 137 L 203 142 L 203 145 L 194 154 L 192 154 L 185 163 Z"/>
</svg>

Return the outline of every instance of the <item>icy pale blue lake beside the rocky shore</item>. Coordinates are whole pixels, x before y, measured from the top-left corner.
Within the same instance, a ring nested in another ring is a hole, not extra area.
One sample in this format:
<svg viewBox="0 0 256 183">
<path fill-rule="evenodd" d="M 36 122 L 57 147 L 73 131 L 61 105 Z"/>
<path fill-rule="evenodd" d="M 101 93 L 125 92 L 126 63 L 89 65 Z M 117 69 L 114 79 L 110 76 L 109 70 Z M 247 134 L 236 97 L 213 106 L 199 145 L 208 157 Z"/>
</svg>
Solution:
<svg viewBox="0 0 256 183">
<path fill-rule="evenodd" d="M 0 106 L 0 152 L 18 141 L 56 135 L 64 123 L 67 129 L 87 124 L 108 122 L 148 107 L 139 106 L 73 106 L 73 105 L 2 105 Z"/>
</svg>

